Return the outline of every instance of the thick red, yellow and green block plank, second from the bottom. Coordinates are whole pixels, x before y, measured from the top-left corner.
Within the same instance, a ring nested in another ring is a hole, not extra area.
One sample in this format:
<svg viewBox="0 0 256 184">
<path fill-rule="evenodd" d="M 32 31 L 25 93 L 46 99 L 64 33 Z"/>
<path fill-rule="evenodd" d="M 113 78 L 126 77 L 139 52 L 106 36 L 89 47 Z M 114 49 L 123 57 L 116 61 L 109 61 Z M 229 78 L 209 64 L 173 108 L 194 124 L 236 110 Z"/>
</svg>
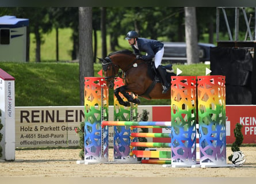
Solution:
<svg viewBox="0 0 256 184">
<path fill-rule="evenodd" d="M 142 151 L 133 150 L 132 153 L 141 158 L 171 158 L 171 151 Z"/>
</svg>

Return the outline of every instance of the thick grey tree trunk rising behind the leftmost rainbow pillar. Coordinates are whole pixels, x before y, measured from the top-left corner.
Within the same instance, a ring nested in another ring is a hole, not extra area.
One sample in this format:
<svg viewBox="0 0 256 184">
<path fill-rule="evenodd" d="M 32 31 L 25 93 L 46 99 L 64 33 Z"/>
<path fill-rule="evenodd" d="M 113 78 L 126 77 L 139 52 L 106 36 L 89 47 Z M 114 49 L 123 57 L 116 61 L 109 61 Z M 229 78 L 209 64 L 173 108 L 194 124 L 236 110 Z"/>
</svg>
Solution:
<svg viewBox="0 0 256 184">
<path fill-rule="evenodd" d="M 79 7 L 79 84 L 80 103 L 85 103 L 85 76 L 94 76 L 92 7 Z"/>
</svg>

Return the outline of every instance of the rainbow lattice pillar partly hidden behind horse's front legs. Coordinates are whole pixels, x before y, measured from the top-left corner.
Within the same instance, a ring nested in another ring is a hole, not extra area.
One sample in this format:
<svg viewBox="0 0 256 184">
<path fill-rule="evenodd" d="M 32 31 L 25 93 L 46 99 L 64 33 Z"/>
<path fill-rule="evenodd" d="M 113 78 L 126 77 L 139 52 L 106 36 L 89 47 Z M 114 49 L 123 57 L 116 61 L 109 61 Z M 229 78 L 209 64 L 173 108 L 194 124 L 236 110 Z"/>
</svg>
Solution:
<svg viewBox="0 0 256 184">
<path fill-rule="evenodd" d="M 123 79 L 117 78 L 114 81 L 114 89 L 123 86 Z M 131 94 L 133 95 L 133 94 Z M 123 94 L 120 97 L 124 101 Z M 133 98 L 135 95 L 133 96 Z M 129 107 L 120 105 L 117 98 L 114 96 L 114 121 L 137 121 L 137 104 L 132 104 Z M 137 132 L 137 128 L 131 129 L 129 126 L 114 126 L 114 161 L 133 162 L 136 161 L 135 156 L 132 155 L 132 149 L 130 148 L 132 141 L 137 139 L 131 139 L 131 133 Z"/>
</svg>

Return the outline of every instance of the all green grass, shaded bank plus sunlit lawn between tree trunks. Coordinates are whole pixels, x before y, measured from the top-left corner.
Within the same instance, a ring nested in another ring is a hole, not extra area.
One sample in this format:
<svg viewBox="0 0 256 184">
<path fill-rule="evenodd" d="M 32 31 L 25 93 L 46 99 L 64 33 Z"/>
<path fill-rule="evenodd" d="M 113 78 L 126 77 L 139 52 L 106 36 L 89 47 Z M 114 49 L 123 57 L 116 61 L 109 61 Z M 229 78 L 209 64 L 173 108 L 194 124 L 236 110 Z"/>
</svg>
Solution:
<svg viewBox="0 0 256 184">
<path fill-rule="evenodd" d="M 55 30 L 43 35 L 41 63 L 35 62 L 35 39 L 30 34 L 30 62 L 0 62 L 0 68 L 15 78 L 16 106 L 79 106 L 79 63 L 71 62 L 71 29 L 59 29 L 59 58 L 55 59 Z M 97 33 L 100 38 L 100 32 Z M 109 39 L 107 39 L 109 45 Z M 101 57 L 101 39 L 98 39 L 98 57 Z M 119 49 L 131 47 L 124 37 L 119 39 Z M 108 53 L 111 51 L 108 50 Z M 173 69 L 182 70 L 181 75 L 205 75 L 205 64 L 174 64 Z M 94 64 L 94 76 L 101 64 Z M 140 97 L 139 97 L 140 98 Z M 169 99 L 140 98 L 141 105 L 169 105 Z M 113 105 L 113 90 L 109 90 L 109 105 Z"/>
</svg>

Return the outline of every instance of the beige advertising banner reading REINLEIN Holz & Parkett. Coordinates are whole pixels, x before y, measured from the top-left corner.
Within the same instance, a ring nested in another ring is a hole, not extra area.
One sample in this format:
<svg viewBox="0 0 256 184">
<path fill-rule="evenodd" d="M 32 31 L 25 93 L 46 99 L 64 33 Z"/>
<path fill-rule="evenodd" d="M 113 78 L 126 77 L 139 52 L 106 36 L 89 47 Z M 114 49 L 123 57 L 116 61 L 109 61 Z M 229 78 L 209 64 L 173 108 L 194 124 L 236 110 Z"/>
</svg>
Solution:
<svg viewBox="0 0 256 184">
<path fill-rule="evenodd" d="M 84 106 L 16 107 L 16 147 L 72 147 Z"/>
</svg>

